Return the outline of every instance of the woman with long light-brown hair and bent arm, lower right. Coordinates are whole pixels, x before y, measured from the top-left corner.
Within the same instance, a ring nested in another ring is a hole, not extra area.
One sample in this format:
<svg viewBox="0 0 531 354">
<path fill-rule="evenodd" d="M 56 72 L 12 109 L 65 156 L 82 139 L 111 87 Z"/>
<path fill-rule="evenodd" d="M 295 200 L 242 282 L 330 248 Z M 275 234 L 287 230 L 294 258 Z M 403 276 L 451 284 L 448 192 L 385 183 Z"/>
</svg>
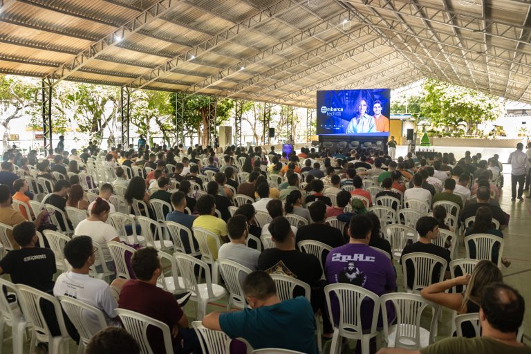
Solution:
<svg viewBox="0 0 531 354">
<path fill-rule="evenodd" d="M 463 274 L 454 279 L 434 283 L 420 290 L 425 299 L 457 311 L 458 315 L 478 313 L 481 295 L 491 283 L 503 281 L 501 270 L 491 261 L 479 261 L 472 274 Z M 454 286 L 467 286 L 464 294 L 446 292 Z M 472 326 L 463 326 L 463 336 L 472 338 L 476 333 Z"/>
</svg>

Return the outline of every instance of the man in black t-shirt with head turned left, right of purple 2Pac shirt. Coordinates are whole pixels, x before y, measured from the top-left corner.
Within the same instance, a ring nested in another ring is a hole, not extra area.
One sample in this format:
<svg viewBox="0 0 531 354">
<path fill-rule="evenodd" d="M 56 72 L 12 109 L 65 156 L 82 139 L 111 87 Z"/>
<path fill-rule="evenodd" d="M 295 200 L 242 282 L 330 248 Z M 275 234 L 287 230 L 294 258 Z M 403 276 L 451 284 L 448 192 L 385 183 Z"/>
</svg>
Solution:
<svg viewBox="0 0 531 354">
<path fill-rule="evenodd" d="M 439 234 L 439 222 L 437 221 L 436 218 L 432 216 L 422 216 L 421 218 L 418 219 L 415 228 L 420 236 L 420 239 L 416 243 L 412 243 L 404 247 L 404 250 L 402 250 L 402 256 L 400 256 L 400 264 L 402 264 L 402 257 L 404 257 L 406 254 L 409 254 L 409 253 L 421 252 L 421 253 L 434 254 L 435 256 L 441 257 L 445 259 L 445 261 L 447 261 L 447 269 L 445 273 L 445 278 L 448 278 L 449 277 L 449 264 L 451 261 L 450 252 L 446 250 L 445 248 L 442 248 L 438 245 L 434 245 L 433 243 L 431 243 L 431 240 L 436 239 Z M 413 262 L 407 261 L 406 268 L 407 268 L 407 287 L 411 289 L 413 287 L 413 277 L 415 274 L 415 270 L 413 268 Z M 439 281 L 441 271 L 442 270 L 440 269 L 440 264 L 436 265 L 434 268 L 434 272 L 431 276 L 432 283 L 437 283 Z"/>
</svg>

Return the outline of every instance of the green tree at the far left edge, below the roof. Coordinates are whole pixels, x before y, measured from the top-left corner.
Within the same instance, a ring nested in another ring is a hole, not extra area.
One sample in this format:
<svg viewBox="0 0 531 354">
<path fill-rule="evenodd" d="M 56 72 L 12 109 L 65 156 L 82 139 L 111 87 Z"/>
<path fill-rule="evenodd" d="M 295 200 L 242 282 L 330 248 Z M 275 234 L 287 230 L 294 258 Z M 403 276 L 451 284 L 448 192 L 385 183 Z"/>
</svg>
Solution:
<svg viewBox="0 0 531 354">
<path fill-rule="evenodd" d="M 3 127 L 3 151 L 9 149 L 10 123 L 31 114 L 38 102 L 38 84 L 26 83 L 19 77 L 0 75 L 0 125 Z"/>
</svg>

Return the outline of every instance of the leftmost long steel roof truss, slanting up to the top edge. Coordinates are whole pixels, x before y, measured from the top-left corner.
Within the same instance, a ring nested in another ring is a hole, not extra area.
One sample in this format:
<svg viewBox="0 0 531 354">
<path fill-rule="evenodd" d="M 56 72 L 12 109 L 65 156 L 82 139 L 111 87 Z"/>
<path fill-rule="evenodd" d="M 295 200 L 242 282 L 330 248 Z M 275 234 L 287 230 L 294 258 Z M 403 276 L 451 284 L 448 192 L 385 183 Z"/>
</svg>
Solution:
<svg viewBox="0 0 531 354">
<path fill-rule="evenodd" d="M 113 32 L 111 32 L 109 35 L 106 35 L 95 44 L 92 44 L 76 55 L 73 59 L 69 60 L 62 66 L 59 66 L 59 68 L 56 68 L 55 71 L 46 75 L 46 79 L 53 80 L 53 85 L 57 84 L 61 80 L 66 79 L 66 77 L 72 73 L 75 73 L 75 71 L 91 62 L 92 59 L 100 56 L 106 49 L 117 45 L 123 39 L 127 39 L 127 37 L 130 37 L 139 30 L 142 30 L 142 28 L 145 28 L 153 21 L 156 21 L 158 17 L 164 15 L 169 10 L 176 8 L 178 5 L 180 5 L 179 0 L 158 1 L 140 15 L 137 15 L 130 21 L 127 21 L 127 23 L 120 26 L 120 28 L 113 30 Z"/>
</svg>

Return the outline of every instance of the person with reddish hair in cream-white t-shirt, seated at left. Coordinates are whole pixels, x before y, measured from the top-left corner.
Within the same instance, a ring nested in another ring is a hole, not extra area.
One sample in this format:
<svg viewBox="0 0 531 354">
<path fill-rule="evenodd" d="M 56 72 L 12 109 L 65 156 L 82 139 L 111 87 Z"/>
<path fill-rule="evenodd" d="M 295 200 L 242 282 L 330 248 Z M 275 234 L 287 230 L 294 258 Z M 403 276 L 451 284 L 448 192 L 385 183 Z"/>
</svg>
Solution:
<svg viewBox="0 0 531 354">
<path fill-rule="evenodd" d="M 114 270 L 114 262 L 111 253 L 109 253 L 109 248 L 107 248 L 106 242 L 120 242 L 120 239 L 118 238 L 118 232 L 116 232 L 116 229 L 112 225 L 106 223 L 111 210 L 110 205 L 100 197 L 97 197 L 91 205 L 91 216 L 88 216 L 88 218 L 77 224 L 74 234 L 89 236 L 95 243 L 100 245 L 107 268 L 109 268 L 109 270 Z M 102 272 L 103 269 L 99 259 L 95 263 L 95 267 L 97 272 Z"/>
</svg>

